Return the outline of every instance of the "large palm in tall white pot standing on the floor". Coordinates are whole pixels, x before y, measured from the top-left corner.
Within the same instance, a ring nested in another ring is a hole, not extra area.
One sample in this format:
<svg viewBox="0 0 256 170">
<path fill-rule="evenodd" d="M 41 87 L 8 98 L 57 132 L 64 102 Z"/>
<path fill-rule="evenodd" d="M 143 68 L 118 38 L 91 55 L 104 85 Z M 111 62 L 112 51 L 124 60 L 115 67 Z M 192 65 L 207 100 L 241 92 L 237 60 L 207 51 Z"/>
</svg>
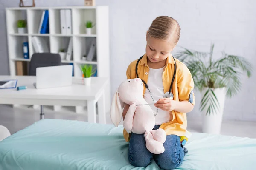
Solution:
<svg viewBox="0 0 256 170">
<path fill-rule="evenodd" d="M 253 67 L 245 58 L 224 52 L 220 59 L 214 60 L 213 49 L 214 45 L 210 52 L 183 48 L 176 57 L 189 68 L 194 86 L 201 92 L 203 133 L 219 134 L 226 96 L 231 98 L 240 91 L 239 77 L 243 72 L 250 77 Z"/>
</svg>

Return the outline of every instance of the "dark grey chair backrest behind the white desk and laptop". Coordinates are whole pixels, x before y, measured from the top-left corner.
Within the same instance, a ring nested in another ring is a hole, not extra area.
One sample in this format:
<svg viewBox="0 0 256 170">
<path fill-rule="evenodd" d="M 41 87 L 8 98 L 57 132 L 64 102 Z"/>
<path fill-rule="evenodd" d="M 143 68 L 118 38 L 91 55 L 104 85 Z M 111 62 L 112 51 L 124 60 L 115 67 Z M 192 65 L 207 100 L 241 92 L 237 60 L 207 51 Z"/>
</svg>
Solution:
<svg viewBox="0 0 256 170">
<path fill-rule="evenodd" d="M 60 54 L 54 53 L 35 53 L 29 63 L 29 75 L 36 75 L 36 68 L 61 65 Z"/>
</svg>

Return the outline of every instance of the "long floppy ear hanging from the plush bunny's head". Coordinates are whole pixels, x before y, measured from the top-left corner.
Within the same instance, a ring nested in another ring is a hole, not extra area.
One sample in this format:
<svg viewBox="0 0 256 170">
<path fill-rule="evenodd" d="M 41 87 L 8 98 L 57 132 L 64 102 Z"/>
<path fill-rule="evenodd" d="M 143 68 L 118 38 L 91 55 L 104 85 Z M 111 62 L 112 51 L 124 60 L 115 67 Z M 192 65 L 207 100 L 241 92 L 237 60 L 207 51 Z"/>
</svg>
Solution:
<svg viewBox="0 0 256 170">
<path fill-rule="evenodd" d="M 124 107 L 124 102 L 119 98 L 119 93 L 116 90 L 110 108 L 110 118 L 113 124 L 117 127 L 122 119 L 122 108 Z"/>
</svg>

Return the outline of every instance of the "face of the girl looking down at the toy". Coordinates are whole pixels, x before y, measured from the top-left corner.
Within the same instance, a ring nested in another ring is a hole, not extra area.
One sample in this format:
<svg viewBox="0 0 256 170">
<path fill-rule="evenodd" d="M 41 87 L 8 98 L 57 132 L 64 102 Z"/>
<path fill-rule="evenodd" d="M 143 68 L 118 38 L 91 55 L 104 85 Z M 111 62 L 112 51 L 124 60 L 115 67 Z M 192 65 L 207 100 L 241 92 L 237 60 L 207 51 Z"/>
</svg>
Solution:
<svg viewBox="0 0 256 170">
<path fill-rule="evenodd" d="M 172 52 L 173 48 L 170 40 L 158 40 L 148 36 L 148 34 L 146 40 L 146 54 L 153 63 L 164 61 Z"/>
</svg>

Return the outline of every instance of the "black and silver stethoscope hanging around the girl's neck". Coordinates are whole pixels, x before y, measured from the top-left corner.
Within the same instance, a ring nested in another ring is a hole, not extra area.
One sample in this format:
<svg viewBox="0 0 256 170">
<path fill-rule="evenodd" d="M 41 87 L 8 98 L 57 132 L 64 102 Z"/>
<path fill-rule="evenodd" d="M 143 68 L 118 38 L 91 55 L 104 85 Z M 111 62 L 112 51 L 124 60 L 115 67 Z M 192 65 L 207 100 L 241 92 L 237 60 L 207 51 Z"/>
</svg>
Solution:
<svg viewBox="0 0 256 170">
<path fill-rule="evenodd" d="M 172 56 L 172 57 L 173 57 L 173 56 Z M 135 71 L 136 71 L 136 76 L 137 76 L 137 78 L 139 78 L 139 75 L 138 75 L 138 64 L 139 64 L 139 62 L 140 62 L 140 60 L 141 60 L 142 58 L 143 58 L 143 56 L 141 56 L 141 57 L 138 59 L 137 63 L 136 63 Z M 173 77 L 172 77 L 172 82 L 171 82 L 171 85 L 170 85 L 170 88 L 169 88 L 169 92 L 167 91 L 167 92 L 163 95 L 164 98 L 169 98 L 169 99 L 173 99 L 173 93 L 172 93 L 171 91 L 172 91 L 172 85 L 173 85 L 173 82 L 174 82 L 174 79 L 175 79 L 175 75 L 176 75 L 176 61 L 175 61 L 175 58 L 174 58 L 174 57 L 173 57 L 173 59 L 174 59 L 174 68 L 175 68 L 175 70 L 174 70 L 174 74 L 173 74 Z M 146 89 L 148 90 L 148 92 L 149 92 L 149 94 L 150 94 L 152 100 L 153 100 L 154 103 L 155 103 L 155 100 L 154 100 L 153 96 L 151 95 L 151 91 L 149 90 L 147 83 L 146 83 L 143 79 L 142 79 L 142 82 L 144 83 L 144 85 L 145 85 Z M 157 113 L 158 113 L 158 108 L 157 108 Z M 156 113 L 155 115 L 157 115 L 157 113 Z"/>
</svg>

